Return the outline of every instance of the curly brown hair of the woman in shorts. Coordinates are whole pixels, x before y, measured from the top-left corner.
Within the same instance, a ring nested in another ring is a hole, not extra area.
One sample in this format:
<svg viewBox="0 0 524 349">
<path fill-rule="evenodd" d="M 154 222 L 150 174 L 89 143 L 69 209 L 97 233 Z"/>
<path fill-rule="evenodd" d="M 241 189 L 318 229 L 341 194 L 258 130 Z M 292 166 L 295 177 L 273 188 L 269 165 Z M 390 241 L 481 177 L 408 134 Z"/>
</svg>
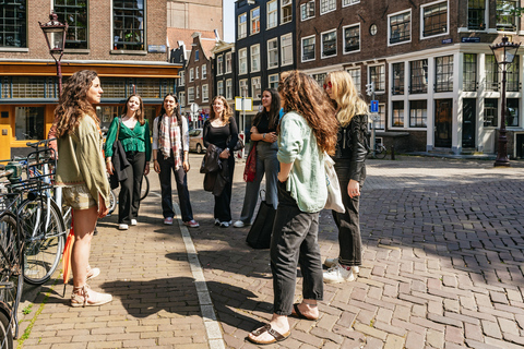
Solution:
<svg viewBox="0 0 524 349">
<path fill-rule="evenodd" d="M 57 122 L 57 139 L 71 134 L 79 127 L 84 115 L 99 122 L 95 108 L 86 99 L 87 91 L 98 76 L 95 71 L 81 70 L 75 72 L 63 85 L 62 94 L 55 109 Z"/>
</svg>

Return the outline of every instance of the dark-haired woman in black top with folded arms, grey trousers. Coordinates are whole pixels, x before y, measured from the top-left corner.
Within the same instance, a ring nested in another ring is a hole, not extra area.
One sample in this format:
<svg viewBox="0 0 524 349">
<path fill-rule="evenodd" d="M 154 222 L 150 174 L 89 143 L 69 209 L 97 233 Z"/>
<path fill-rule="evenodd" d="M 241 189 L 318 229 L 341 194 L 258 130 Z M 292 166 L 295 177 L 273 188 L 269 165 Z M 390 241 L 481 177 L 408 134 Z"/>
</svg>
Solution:
<svg viewBox="0 0 524 349">
<path fill-rule="evenodd" d="M 276 129 L 278 128 L 281 97 L 274 88 L 266 88 L 262 93 L 262 107 L 253 120 L 250 130 L 252 146 L 257 147 L 257 174 L 252 182 L 246 183 L 242 213 L 240 219 L 234 225 L 242 228 L 251 225 L 254 208 L 259 197 L 260 182 L 265 174 L 265 202 L 276 209 L 278 195 L 276 190 L 276 176 L 278 173 L 278 152 Z"/>
</svg>

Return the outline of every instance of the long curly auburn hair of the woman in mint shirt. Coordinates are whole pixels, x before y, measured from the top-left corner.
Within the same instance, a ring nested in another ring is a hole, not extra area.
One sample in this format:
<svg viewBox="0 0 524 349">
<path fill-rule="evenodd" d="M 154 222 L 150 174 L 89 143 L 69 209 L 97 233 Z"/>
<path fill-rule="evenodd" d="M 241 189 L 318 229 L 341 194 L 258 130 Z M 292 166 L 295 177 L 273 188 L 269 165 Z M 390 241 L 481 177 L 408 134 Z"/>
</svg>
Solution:
<svg viewBox="0 0 524 349">
<path fill-rule="evenodd" d="M 333 155 L 336 147 L 338 122 L 333 105 L 317 81 L 295 70 L 289 72 L 279 84 L 278 93 L 284 101 L 284 109 L 301 115 L 313 130 L 321 151 Z"/>
</svg>

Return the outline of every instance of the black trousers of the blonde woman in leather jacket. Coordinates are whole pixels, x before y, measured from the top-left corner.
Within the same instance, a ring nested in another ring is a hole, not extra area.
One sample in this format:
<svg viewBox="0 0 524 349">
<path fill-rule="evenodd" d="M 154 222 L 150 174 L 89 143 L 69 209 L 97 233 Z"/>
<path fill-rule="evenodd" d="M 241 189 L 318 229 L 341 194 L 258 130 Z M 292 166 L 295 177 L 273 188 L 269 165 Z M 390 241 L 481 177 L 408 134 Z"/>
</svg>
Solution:
<svg viewBox="0 0 524 349">
<path fill-rule="evenodd" d="M 360 238 L 359 202 L 360 196 L 349 197 L 347 173 L 349 164 L 336 164 L 335 170 L 341 184 L 342 201 L 346 212 L 341 214 L 333 210 L 333 218 L 338 228 L 338 245 L 341 252 L 338 262 L 347 266 L 360 266 L 362 264 L 362 240 Z M 360 194 L 366 180 L 366 168 L 360 173 Z"/>
</svg>

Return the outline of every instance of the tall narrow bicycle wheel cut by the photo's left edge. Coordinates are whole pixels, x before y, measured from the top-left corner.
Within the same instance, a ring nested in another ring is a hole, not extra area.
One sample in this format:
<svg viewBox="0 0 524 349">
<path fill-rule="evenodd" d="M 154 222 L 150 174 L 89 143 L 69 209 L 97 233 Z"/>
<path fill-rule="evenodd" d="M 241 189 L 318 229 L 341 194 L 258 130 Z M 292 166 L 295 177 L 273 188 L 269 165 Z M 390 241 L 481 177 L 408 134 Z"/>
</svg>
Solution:
<svg viewBox="0 0 524 349">
<path fill-rule="evenodd" d="M 0 303 L 10 313 L 8 324 L 11 325 L 8 325 L 7 332 L 8 340 L 11 337 L 11 327 L 14 326 L 15 336 L 19 333 L 16 313 L 24 285 L 21 249 L 23 249 L 23 242 L 17 239 L 16 217 L 12 213 L 4 212 L 0 215 Z"/>
</svg>

